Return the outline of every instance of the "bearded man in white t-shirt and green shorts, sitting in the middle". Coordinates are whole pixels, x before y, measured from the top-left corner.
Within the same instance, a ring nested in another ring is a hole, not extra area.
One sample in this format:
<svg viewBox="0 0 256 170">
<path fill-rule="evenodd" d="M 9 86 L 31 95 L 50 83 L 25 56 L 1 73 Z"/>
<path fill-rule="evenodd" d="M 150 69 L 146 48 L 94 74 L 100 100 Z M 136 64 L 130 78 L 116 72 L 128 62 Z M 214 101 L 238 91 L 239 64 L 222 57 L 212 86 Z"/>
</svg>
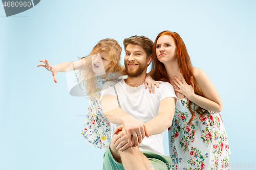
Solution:
<svg viewBox="0 0 256 170">
<path fill-rule="evenodd" d="M 174 116 L 177 98 L 173 86 L 162 82 L 155 93 L 144 88 L 146 68 L 152 61 L 152 40 L 133 36 L 123 43 L 128 77 L 106 82 L 101 92 L 104 116 L 117 133 L 112 134 L 104 154 L 103 169 L 169 169 L 163 132 L 172 125 Z"/>
</svg>

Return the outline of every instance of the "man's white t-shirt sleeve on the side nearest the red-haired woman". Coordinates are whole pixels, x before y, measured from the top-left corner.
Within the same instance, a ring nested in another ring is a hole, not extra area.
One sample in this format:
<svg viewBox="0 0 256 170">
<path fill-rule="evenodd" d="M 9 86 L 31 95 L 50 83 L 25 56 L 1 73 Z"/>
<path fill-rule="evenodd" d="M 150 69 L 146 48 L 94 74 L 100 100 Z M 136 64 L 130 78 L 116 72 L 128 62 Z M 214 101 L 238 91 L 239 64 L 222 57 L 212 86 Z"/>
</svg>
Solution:
<svg viewBox="0 0 256 170">
<path fill-rule="evenodd" d="M 175 105 L 178 102 L 178 98 L 175 94 L 174 88 L 170 83 L 161 82 L 161 91 L 159 93 L 159 100 L 163 100 L 164 98 L 172 97 L 175 99 Z"/>
</svg>

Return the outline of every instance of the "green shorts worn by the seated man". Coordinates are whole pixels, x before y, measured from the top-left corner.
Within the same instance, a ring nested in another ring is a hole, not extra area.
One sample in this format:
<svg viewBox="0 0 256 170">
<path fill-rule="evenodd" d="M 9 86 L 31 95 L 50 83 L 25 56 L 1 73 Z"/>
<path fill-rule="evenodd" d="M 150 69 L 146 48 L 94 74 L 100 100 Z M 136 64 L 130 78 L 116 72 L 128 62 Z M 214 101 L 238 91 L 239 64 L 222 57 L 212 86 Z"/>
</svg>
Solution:
<svg viewBox="0 0 256 170">
<path fill-rule="evenodd" d="M 141 151 L 151 163 L 148 164 L 149 168 L 155 168 L 156 170 L 169 170 L 172 167 L 172 160 L 168 156 L 158 155 L 151 151 Z M 103 170 L 122 169 L 123 165 L 117 162 L 110 151 L 110 144 L 108 149 L 104 153 Z"/>
</svg>

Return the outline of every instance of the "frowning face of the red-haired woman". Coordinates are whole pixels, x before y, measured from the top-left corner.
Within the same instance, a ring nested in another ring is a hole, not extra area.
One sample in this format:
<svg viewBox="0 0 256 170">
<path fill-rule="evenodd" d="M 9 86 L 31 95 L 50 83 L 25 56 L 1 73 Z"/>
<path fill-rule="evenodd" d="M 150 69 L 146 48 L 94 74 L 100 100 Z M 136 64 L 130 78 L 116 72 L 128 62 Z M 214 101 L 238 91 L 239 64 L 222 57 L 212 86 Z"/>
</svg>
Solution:
<svg viewBox="0 0 256 170">
<path fill-rule="evenodd" d="M 158 38 L 156 44 L 156 55 L 157 59 L 162 63 L 177 59 L 177 47 L 172 36 L 163 35 Z"/>
</svg>

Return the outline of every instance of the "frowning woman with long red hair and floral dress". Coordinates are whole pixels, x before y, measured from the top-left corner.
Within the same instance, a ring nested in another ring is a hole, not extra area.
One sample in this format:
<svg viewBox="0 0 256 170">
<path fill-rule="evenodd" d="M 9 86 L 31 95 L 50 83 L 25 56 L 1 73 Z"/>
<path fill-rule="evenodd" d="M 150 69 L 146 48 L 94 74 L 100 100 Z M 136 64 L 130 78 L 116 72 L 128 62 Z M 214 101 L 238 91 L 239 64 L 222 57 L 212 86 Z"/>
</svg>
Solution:
<svg viewBox="0 0 256 170">
<path fill-rule="evenodd" d="M 153 46 L 154 80 L 173 85 L 178 103 L 168 129 L 174 169 L 229 169 L 230 149 L 219 112 L 218 91 L 200 68 L 193 67 L 179 34 L 163 31 Z"/>
</svg>

